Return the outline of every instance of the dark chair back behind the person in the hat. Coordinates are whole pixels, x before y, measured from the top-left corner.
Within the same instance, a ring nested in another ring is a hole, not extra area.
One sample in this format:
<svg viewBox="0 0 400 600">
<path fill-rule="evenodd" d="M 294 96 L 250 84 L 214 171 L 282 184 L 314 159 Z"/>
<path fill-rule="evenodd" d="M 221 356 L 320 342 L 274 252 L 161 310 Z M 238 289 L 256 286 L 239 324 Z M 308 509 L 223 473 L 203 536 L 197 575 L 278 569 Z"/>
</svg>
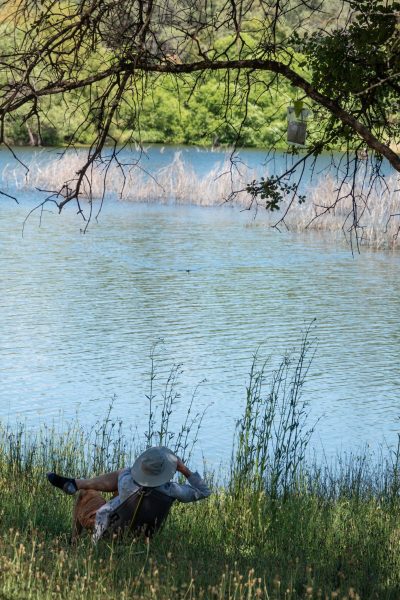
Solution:
<svg viewBox="0 0 400 600">
<path fill-rule="evenodd" d="M 103 535 L 130 531 L 134 536 L 151 537 L 160 529 L 174 501 L 154 488 L 140 487 L 110 513 Z"/>
</svg>

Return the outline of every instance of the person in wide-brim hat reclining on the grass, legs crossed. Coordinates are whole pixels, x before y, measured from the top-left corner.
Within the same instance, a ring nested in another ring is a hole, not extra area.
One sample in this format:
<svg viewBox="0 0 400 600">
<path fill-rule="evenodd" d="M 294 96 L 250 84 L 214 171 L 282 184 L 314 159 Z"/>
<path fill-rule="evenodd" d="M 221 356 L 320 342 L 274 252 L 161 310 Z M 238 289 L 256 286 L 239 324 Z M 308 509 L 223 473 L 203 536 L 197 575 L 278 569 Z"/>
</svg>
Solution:
<svg viewBox="0 0 400 600">
<path fill-rule="evenodd" d="M 186 477 L 187 483 L 171 481 L 176 472 Z M 76 542 L 83 529 L 91 531 L 93 541 L 98 541 L 108 528 L 110 513 L 141 486 L 155 488 L 179 502 L 195 502 L 211 494 L 199 473 L 190 471 L 165 446 L 148 448 L 132 467 L 91 479 L 74 479 L 57 473 L 48 473 L 47 479 L 66 494 L 78 494 L 73 512 L 72 542 Z M 107 502 L 100 492 L 111 492 L 114 497 Z"/>
</svg>

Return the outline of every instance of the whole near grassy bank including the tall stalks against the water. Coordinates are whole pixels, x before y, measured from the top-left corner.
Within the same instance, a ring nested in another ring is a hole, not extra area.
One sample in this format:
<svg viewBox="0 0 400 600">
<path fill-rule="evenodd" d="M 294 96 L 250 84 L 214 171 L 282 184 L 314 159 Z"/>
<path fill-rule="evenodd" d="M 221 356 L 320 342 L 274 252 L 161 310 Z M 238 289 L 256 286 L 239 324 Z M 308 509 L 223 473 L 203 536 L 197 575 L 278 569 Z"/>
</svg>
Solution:
<svg viewBox="0 0 400 600">
<path fill-rule="evenodd" d="M 311 430 L 300 392 L 309 352 L 303 344 L 272 373 L 255 362 L 225 481 L 208 474 L 214 494 L 174 505 L 150 544 L 93 547 L 83 538 L 71 547 L 73 500 L 45 478 L 48 470 L 89 475 L 130 464 L 138 440 L 125 442 L 109 418 L 61 434 L 3 428 L 0 598 L 398 598 L 398 454 L 307 466 Z M 168 394 L 164 428 L 149 395 L 148 441 L 178 443 L 182 453 L 187 438 L 165 424 Z"/>
</svg>

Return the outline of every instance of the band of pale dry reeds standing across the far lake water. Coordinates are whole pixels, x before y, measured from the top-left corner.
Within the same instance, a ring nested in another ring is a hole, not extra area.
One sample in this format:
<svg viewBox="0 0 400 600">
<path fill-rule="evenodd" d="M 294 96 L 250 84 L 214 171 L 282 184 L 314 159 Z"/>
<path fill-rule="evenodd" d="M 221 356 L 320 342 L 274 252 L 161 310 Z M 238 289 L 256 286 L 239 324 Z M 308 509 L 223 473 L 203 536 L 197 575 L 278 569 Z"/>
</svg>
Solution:
<svg viewBox="0 0 400 600">
<path fill-rule="evenodd" d="M 4 183 L 17 189 L 58 190 L 60 181 L 73 181 L 73 174 L 81 165 L 79 154 L 71 152 L 56 160 L 36 160 L 30 165 L 28 173 L 21 168 L 5 167 L 2 178 Z M 290 198 L 282 202 L 279 211 L 272 214 L 262 212 L 262 203 L 256 207 L 246 191 L 247 184 L 259 174 L 244 165 L 231 167 L 229 161 L 223 161 L 200 176 L 182 160 L 179 152 L 171 164 L 152 176 L 139 165 L 122 169 L 111 164 L 105 177 L 104 165 L 97 165 L 92 170 L 90 180 L 84 183 L 83 195 L 101 198 L 107 194 L 123 201 L 142 203 L 198 206 L 234 204 L 242 209 L 257 208 L 261 219 L 258 222 L 263 225 L 279 222 Z M 343 237 L 344 234 L 351 242 L 361 245 L 396 249 L 399 247 L 400 227 L 398 183 L 398 179 L 392 176 L 383 183 L 377 181 L 366 187 L 365 179 L 360 178 L 354 194 L 351 194 L 350 184 L 343 184 L 339 190 L 337 180 L 324 176 L 315 180 L 306 190 L 305 203 L 293 203 L 281 227 L 286 226 L 298 232 L 326 231 L 336 237 L 338 234 Z M 354 222 L 354 214 L 357 215 L 357 223 Z"/>
</svg>

